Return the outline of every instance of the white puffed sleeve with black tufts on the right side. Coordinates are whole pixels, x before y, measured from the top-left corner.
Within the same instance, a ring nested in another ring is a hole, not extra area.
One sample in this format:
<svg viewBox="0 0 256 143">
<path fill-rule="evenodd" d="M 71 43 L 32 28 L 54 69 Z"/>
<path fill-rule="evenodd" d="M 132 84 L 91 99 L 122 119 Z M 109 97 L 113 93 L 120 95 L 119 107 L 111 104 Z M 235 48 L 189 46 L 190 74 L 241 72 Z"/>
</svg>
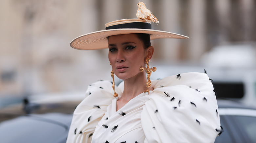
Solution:
<svg viewBox="0 0 256 143">
<path fill-rule="evenodd" d="M 220 118 L 205 73 L 183 73 L 154 83 L 141 113 L 146 143 L 213 143 Z"/>
</svg>

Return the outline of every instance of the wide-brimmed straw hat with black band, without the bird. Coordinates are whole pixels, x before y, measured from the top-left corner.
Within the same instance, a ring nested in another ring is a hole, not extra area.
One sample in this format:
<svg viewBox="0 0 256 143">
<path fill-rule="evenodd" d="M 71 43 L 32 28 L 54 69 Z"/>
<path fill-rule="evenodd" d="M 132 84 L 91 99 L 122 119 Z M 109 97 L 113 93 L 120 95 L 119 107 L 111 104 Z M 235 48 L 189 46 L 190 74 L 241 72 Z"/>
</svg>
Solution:
<svg viewBox="0 0 256 143">
<path fill-rule="evenodd" d="M 121 34 L 145 33 L 150 39 L 176 38 L 189 39 L 187 36 L 151 29 L 150 22 L 141 19 L 123 19 L 106 24 L 106 30 L 81 35 L 71 41 L 70 46 L 80 50 L 95 50 L 108 48 L 107 37 Z"/>
</svg>

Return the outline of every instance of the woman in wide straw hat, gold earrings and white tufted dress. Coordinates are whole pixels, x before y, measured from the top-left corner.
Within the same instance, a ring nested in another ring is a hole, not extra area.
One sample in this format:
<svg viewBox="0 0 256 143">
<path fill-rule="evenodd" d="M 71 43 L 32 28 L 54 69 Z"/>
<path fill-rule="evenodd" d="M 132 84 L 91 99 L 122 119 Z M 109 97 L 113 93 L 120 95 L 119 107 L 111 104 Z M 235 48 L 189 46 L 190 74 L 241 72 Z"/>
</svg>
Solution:
<svg viewBox="0 0 256 143">
<path fill-rule="evenodd" d="M 150 39 L 158 38 L 188 39 L 152 30 L 148 20 L 124 19 L 71 42 L 76 49 L 109 48 L 113 83 L 98 81 L 88 87 L 87 97 L 75 109 L 67 143 L 205 143 L 221 134 L 207 74 L 183 73 L 150 81 L 156 70 L 149 68 L 154 53 Z M 114 74 L 123 79 L 118 87 Z"/>
</svg>

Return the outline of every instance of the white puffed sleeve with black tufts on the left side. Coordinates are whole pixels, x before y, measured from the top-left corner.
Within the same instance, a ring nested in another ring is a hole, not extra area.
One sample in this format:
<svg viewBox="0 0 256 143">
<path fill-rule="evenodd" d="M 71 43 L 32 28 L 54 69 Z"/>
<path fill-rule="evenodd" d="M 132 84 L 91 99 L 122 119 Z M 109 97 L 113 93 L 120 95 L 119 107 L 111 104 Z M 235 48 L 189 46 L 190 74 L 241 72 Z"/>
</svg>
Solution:
<svg viewBox="0 0 256 143">
<path fill-rule="evenodd" d="M 110 81 L 98 81 L 88 86 L 86 98 L 74 111 L 67 143 L 91 142 L 96 125 L 114 98 L 110 87 Z"/>
</svg>

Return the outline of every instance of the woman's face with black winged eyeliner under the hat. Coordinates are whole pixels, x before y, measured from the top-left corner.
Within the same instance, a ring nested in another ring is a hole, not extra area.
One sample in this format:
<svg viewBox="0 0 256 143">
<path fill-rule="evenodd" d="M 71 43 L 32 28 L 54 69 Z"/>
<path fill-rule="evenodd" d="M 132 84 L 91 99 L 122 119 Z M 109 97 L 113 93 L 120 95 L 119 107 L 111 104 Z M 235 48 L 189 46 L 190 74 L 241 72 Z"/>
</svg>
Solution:
<svg viewBox="0 0 256 143">
<path fill-rule="evenodd" d="M 143 74 L 139 69 L 145 65 L 149 48 L 143 47 L 136 34 L 110 36 L 108 48 L 108 58 L 118 78 L 125 80 Z"/>
</svg>

